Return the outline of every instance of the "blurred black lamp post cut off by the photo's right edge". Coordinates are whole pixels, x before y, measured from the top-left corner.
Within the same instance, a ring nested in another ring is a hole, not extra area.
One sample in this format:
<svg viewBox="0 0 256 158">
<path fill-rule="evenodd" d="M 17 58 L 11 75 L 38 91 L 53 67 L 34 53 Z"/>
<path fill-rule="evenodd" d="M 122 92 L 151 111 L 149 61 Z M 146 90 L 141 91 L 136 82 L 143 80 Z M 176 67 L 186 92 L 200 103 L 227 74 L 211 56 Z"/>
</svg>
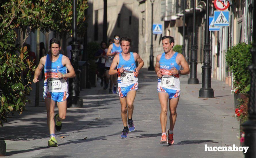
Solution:
<svg viewBox="0 0 256 158">
<path fill-rule="evenodd" d="M 248 121 L 243 126 L 244 146 L 249 147 L 245 157 L 255 157 L 256 155 L 256 2 L 253 3 L 253 47 L 251 49 L 252 65 L 251 70 L 251 88 L 248 105 Z"/>
</svg>

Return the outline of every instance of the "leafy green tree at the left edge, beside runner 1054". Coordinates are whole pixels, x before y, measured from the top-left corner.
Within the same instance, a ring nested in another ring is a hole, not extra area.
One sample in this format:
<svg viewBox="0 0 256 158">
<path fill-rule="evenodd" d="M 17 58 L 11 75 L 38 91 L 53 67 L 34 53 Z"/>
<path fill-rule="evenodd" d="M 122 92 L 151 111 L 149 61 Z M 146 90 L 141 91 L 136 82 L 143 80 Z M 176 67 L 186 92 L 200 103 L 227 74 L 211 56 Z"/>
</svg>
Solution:
<svg viewBox="0 0 256 158">
<path fill-rule="evenodd" d="M 20 114 L 29 102 L 26 95 L 30 93 L 31 72 L 34 70 L 33 62 L 27 60 L 26 47 L 20 49 L 20 55 L 15 53 L 15 39 L 17 34 L 14 31 L 19 26 L 18 20 L 26 18 L 23 13 L 26 10 L 24 1 L 2 0 L 0 9 L 0 124 L 7 121 L 7 116 L 14 112 Z M 24 83 L 20 74 L 28 68 L 24 76 L 28 80 Z"/>
</svg>

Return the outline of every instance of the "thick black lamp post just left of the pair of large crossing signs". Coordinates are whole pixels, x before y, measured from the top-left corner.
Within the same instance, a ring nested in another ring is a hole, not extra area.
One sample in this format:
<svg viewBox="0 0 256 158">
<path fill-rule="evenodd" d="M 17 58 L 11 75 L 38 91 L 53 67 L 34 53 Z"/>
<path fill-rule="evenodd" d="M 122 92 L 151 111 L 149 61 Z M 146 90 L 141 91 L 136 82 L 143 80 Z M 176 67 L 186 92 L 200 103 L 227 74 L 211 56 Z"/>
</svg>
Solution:
<svg viewBox="0 0 256 158">
<path fill-rule="evenodd" d="M 209 0 L 206 1 L 206 17 L 205 17 L 205 49 L 204 49 L 204 65 L 202 66 L 202 88 L 199 90 L 200 98 L 213 98 L 214 91 L 211 88 L 211 59 L 210 59 L 210 31 L 209 31 Z"/>
</svg>

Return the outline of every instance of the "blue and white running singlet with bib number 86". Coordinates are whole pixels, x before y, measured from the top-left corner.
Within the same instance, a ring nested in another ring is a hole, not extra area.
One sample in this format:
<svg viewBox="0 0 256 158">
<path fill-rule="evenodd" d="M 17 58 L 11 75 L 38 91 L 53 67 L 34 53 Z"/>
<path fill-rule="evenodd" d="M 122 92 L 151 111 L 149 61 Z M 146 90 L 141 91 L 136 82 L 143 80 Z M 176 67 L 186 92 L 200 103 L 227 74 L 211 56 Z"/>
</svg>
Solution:
<svg viewBox="0 0 256 158">
<path fill-rule="evenodd" d="M 163 76 L 162 78 L 158 78 L 158 88 L 180 90 L 179 74 L 173 75 L 170 71 L 173 67 L 175 67 L 177 70 L 180 69 L 180 66 L 176 63 L 177 55 L 178 53 L 175 52 L 171 59 L 165 59 L 165 53 L 162 54 L 159 64 Z"/>
</svg>

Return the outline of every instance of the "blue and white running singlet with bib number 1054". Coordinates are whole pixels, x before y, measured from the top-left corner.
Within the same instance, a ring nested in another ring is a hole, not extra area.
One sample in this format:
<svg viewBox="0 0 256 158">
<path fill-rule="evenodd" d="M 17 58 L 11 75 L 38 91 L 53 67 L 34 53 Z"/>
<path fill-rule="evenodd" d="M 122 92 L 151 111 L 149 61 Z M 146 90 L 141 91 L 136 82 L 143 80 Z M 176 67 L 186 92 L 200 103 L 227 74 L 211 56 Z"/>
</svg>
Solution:
<svg viewBox="0 0 256 158">
<path fill-rule="evenodd" d="M 62 74 L 67 73 L 66 66 L 62 65 L 62 57 L 60 54 L 58 59 L 55 62 L 51 62 L 50 55 L 47 54 L 44 71 L 45 71 L 45 80 L 44 80 L 44 94 L 47 92 L 66 92 L 68 91 L 68 84 L 66 78 L 59 79 L 57 76 L 58 71 Z"/>
</svg>

